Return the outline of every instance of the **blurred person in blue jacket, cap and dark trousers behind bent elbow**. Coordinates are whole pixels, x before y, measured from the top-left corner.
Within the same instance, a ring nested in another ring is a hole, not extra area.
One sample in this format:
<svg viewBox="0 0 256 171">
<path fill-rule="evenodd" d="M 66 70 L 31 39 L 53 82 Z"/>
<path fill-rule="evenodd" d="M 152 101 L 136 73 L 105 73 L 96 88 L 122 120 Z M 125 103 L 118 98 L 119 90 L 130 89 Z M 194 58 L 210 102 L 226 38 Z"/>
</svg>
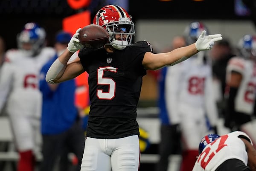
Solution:
<svg viewBox="0 0 256 171">
<path fill-rule="evenodd" d="M 40 171 L 52 171 L 60 156 L 59 170 L 69 171 L 69 153 L 77 157 L 78 162 L 74 171 L 80 171 L 85 136 L 79 110 L 75 104 L 75 80 L 71 79 L 60 84 L 49 84 L 45 81 L 49 67 L 67 49 L 71 37 L 70 33 L 63 31 L 56 34 L 54 45 L 56 54 L 41 69 L 39 85 L 43 94 L 41 133 L 44 159 Z"/>
</svg>

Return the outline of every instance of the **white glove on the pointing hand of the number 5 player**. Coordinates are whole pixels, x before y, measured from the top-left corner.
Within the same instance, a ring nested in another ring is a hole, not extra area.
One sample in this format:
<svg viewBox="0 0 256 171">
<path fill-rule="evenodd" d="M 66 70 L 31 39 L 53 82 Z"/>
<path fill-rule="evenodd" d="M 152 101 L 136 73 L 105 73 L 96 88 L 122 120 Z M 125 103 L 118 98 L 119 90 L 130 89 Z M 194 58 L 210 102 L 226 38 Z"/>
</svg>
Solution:
<svg viewBox="0 0 256 171">
<path fill-rule="evenodd" d="M 195 47 L 198 51 L 212 49 L 215 41 L 222 40 L 221 34 L 216 35 L 205 35 L 206 31 L 204 30 L 199 36 L 198 40 L 195 42 Z"/>
</svg>

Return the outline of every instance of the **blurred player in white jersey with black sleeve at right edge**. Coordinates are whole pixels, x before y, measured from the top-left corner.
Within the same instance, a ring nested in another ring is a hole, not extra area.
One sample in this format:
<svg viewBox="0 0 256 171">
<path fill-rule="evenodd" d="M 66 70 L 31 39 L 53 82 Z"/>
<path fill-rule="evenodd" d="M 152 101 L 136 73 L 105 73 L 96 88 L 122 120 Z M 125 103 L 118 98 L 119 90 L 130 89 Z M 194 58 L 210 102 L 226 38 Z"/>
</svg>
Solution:
<svg viewBox="0 0 256 171">
<path fill-rule="evenodd" d="M 231 58 L 227 65 L 225 126 L 247 133 L 255 147 L 256 36 L 244 35 L 238 46 L 239 56 Z"/>
</svg>

